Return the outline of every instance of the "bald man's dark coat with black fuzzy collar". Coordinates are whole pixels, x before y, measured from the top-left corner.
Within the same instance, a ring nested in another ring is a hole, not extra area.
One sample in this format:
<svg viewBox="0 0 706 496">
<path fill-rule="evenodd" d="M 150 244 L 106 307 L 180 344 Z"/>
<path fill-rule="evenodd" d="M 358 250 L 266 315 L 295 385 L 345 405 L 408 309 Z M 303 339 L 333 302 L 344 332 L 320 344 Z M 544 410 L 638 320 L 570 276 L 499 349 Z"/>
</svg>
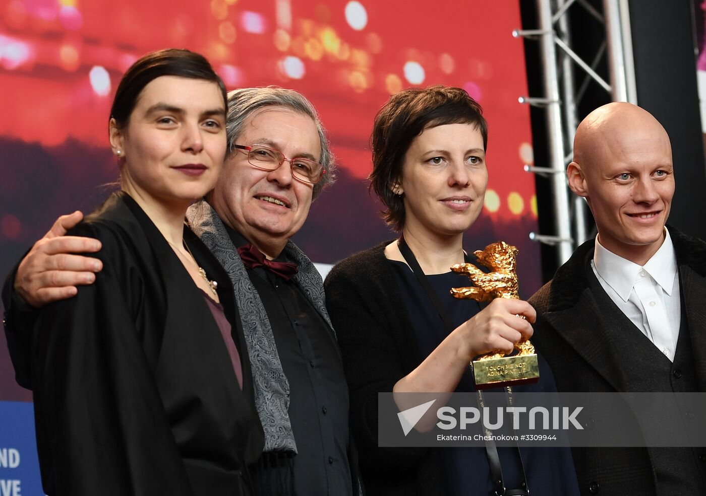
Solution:
<svg viewBox="0 0 706 496">
<path fill-rule="evenodd" d="M 706 391 L 706 243 L 669 227 L 686 308 L 694 366 L 700 391 Z M 635 386 L 621 367 L 628 349 L 616 345 L 589 278 L 594 240 L 582 244 L 544 285 L 530 304 L 537 309 L 532 341 L 554 371 L 564 392 L 630 392 Z M 594 283 L 597 283 L 594 281 Z M 597 289 L 602 291 L 601 289 Z M 645 448 L 574 448 L 582 494 L 655 493 L 654 466 Z M 696 476 L 696 474 L 694 474 Z"/>
</svg>

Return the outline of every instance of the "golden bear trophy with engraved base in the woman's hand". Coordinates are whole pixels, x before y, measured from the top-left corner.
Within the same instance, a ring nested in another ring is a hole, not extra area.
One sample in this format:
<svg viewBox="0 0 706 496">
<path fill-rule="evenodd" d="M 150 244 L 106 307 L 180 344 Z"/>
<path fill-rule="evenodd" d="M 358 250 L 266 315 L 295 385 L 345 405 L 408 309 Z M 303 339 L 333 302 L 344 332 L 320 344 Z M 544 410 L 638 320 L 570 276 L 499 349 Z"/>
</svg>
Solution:
<svg viewBox="0 0 706 496">
<path fill-rule="evenodd" d="M 456 263 L 451 270 L 465 274 L 474 283 L 470 287 L 453 287 L 451 294 L 460 299 L 489 302 L 494 298 L 520 298 L 517 290 L 517 247 L 503 241 L 489 244 L 475 255 L 479 263 L 492 272 L 485 273 L 472 263 Z M 521 316 L 525 318 L 524 316 Z M 489 353 L 472 361 L 471 368 L 478 389 L 505 387 L 539 380 L 539 363 L 530 340 L 518 342 L 511 355 Z"/>
</svg>

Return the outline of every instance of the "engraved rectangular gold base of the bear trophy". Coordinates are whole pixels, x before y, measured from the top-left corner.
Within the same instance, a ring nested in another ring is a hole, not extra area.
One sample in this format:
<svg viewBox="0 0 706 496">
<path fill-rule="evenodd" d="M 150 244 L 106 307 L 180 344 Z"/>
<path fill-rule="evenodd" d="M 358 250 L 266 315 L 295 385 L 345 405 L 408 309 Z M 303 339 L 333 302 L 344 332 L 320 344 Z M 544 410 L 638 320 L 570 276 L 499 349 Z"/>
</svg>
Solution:
<svg viewBox="0 0 706 496">
<path fill-rule="evenodd" d="M 536 383 L 539 380 L 537 354 L 479 359 L 471 363 L 477 389 Z"/>
</svg>

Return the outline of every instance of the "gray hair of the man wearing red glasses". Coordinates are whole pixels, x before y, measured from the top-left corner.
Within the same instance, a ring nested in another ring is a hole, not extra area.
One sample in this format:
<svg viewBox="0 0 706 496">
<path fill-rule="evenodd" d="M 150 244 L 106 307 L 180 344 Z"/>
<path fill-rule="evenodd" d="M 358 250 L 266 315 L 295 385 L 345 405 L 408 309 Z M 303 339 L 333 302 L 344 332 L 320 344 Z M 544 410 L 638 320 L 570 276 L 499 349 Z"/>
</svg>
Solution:
<svg viewBox="0 0 706 496">
<path fill-rule="evenodd" d="M 259 88 L 240 88 L 228 92 L 228 115 L 226 118 L 226 135 L 228 140 L 228 154 L 237 151 L 235 145 L 243 130 L 245 120 L 256 110 L 264 107 L 284 107 L 292 111 L 311 117 L 319 140 L 321 140 L 321 165 L 326 173 L 321 181 L 313 186 L 313 198 L 316 199 L 323 187 L 335 181 L 335 163 L 331 153 L 330 144 L 326 139 L 325 130 L 318 118 L 316 109 L 304 95 L 294 89 L 285 89 L 277 86 Z M 240 143 L 249 146 L 253 143 Z"/>
</svg>

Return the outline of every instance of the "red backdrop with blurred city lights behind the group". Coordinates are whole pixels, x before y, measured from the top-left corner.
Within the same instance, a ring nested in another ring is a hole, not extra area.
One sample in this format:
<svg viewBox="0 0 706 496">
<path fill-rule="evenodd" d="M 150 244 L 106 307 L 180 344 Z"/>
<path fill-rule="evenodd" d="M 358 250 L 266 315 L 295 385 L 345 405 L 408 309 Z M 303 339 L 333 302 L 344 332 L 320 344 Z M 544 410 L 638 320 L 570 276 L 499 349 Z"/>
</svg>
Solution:
<svg viewBox="0 0 706 496">
<path fill-rule="evenodd" d="M 328 129 L 338 182 L 313 204 L 295 241 L 335 261 L 393 237 L 365 178 L 369 133 L 389 95 L 410 86 L 467 89 L 490 136 L 484 213 L 469 249 L 520 247 L 522 294 L 539 287 L 530 116 L 516 1 L 0 0 L 0 273 L 61 213 L 90 211 L 116 179 L 107 120 L 119 79 L 169 46 L 207 56 L 227 87 L 280 85 L 313 102 Z M 13 383 L 0 340 L 0 400 Z"/>
</svg>

